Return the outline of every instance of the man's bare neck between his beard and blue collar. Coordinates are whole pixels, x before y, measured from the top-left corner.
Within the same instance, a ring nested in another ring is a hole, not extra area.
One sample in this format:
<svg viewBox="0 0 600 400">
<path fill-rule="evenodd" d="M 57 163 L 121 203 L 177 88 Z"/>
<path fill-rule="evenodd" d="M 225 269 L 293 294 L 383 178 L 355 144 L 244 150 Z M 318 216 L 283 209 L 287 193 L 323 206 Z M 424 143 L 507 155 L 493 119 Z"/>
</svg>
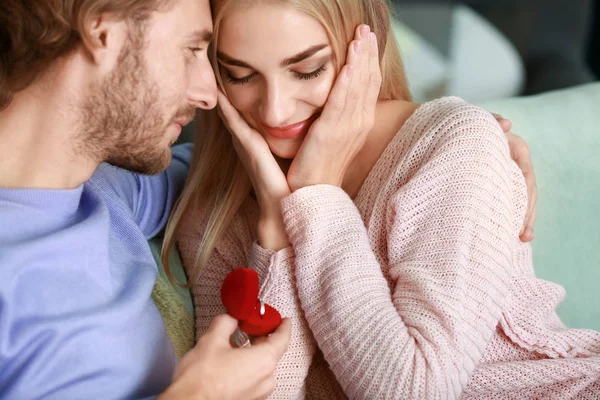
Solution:
<svg viewBox="0 0 600 400">
<path fill-rule="evenodd" d="M 0 188 L 73 189 L 98 167 L 76 153 L 74 99 L 53 86 L 34 84 L 0 111 Z"/>
</svg>

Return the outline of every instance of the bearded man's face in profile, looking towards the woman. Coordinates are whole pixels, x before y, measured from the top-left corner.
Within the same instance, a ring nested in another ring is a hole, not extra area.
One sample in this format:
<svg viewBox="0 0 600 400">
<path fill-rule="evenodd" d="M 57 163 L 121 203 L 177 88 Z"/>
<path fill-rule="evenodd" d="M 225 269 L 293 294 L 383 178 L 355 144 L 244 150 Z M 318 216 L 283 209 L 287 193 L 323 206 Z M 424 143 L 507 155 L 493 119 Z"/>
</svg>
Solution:
<svg viewBox="0 0 600 400">
<path fill-rule="evenodd" d="M 173 0 L 168 11 L 134 24 L 117 67 L 85 102 L 81 145 L 121 168 L 156 174 L 196 108 L 216 105 L 209 2 Z"/>
</svg>

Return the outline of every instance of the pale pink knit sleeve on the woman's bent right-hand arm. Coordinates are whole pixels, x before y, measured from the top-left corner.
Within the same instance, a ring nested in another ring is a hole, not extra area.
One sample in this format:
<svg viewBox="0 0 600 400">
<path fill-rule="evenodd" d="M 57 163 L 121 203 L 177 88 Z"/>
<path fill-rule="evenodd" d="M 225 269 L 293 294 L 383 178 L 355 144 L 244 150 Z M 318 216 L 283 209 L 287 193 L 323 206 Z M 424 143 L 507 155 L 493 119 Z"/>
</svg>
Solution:
<svg viewBox="0 0 600 400">
<path fill-rule="evenodd" d="M 282 203 L 302 308 L 350 398 L 458 398 L 501 317 L 524 187 L 489 113 L 461 115 L 417 142 L 420 165 L 399 166 L 416 172 L 375 207 L 383 236 L 340 188 Z"/>
</svg>

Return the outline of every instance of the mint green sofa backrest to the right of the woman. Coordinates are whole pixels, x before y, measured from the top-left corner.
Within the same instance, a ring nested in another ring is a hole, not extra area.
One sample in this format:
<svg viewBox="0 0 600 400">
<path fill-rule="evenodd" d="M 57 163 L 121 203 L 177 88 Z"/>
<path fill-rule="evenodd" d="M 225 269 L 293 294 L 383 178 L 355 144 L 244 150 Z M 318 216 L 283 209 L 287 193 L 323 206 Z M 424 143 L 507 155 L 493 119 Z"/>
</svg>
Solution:
<svg viewBox="0 0 600 400">
<path fill-rule="evenodd" d="M 600 83 L 480 105 L 531 148 L 537 275 L 567 290 L 558 313 L 568 326 L 600 330 Z"/>
</svg>

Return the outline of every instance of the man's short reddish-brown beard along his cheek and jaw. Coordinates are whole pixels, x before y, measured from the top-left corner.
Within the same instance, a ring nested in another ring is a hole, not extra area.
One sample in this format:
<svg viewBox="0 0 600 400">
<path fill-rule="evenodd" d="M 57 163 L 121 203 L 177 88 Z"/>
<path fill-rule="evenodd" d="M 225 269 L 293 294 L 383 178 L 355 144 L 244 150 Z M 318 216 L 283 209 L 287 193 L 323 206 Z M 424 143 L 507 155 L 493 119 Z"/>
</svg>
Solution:
<svg viewBox="0 0 600 400">
<path fill-rule="evenodd" d="M 164 135 L 173 120 L 161 118 L 168 108 L 160 104 L 158 85 L 144 62 L 144 45 L 143 32 L 134 29 L 115 71 L 84 104 L 77 148 L 94 160 L 152 175 L 171 162 Z M 194 112 L 190 107 L 172 117 L 191 118 Z"/>
</svg>

